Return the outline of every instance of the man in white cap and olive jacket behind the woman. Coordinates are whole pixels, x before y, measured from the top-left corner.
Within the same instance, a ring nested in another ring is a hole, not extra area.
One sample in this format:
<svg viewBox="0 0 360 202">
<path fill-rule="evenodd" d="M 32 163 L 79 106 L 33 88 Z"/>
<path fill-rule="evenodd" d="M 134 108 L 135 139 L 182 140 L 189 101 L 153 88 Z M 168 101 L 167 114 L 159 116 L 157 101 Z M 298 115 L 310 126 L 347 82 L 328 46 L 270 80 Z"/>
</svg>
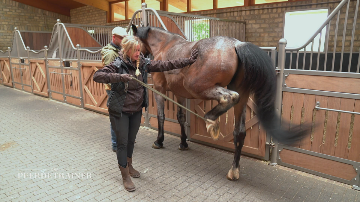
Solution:
<svg viewBox="0 0 360 202">
<path fill-rule="evenodd" d="M 119 51 L 121 50 L 121 41 L 126 36 L 127 33 L 124 28 L 115 27 L 113 29 L 112 41 L 108 45 L 103 47 L 103 50 L 101 50 L 103 66 L 110 64 L 112 61 L 114 61 L 117 58 L 117 56 L 119 56 Z M 105 90 L 109 96 L 111 85 L 105 84 Z M 112 150 L 113 152 L 116 152 L 116 134 L 112 129 L 111 123 L 110 123 L 110 132 L 111 132 Z"/>
</svg>

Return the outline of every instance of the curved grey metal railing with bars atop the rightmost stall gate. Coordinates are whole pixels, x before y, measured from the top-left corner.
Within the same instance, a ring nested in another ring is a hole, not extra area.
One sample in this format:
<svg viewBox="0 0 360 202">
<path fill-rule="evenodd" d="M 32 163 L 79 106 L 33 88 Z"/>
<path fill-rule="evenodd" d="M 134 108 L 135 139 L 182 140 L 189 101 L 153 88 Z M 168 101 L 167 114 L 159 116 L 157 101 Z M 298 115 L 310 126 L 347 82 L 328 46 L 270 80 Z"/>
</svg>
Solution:
<svg viewBox="0 0 360 202">
<path fill-rule="evenodd" d="M 356 5 L 352 5 L 352 7 L 355 7 L 354 19 L 349 19 L 348 14 L 350 4 L 355 3 Z M 346 10 L 342 9 L 345 5 Z M 289 58 L 287 58 L 286 60 L 286 68 L 299 70 L 359 73 L 359 47 L 354 46 L 354 39 L 360 41 L 360 39 L 355 36 L 355 31 L 359 31 L 359 26 L 356 26 L 358 10 L 359 0 L 341 1 L 336 6 L 336 8 L 329 14 L 328 18 L 323 22 L 323 24 L 321 24 L 321 26 L 305 43 L 303 43 L 303 45 L 298 47 L 285 48 L 287 56 L 289 56 Z M 335 25 L 332 25 L 334 23 L 332 23 L 333 20 L 336 21 Z M 325 26 L 326 31 L 325 33 L 323 33 L 323 29 L 325 28 Z M 351 26 L 352 29 L 348 29 L 348 27 Z M 341 28 L 343 29 L 341 30 Z M 348 33 L 351 33 L 351 41 L 350 37 L 347 36 Z M 317 51 L 314 51 L 314 40 L 317 36 L 319 36 L 319 45 L 317 47 Z M 324 51 L 320 51 L 321 38 L 323 37 L 325 37 L 325 43 L 323 44 Z M 311 50 L 308 51 L 306 50 L 306 47 L 310 44 Z M 329 46 L 329 44 L 333 44 L 333 46 Z M 347 50 L 349 45 L 350 49 Z M 302 58 L 300 55 L 302 55 Z M 323 57 L 320 57 L 320 55 L 323 55 Z M 358 56 L 357 61 L 354 60 L 354 56 L 356 55 Z"/>
</svg>

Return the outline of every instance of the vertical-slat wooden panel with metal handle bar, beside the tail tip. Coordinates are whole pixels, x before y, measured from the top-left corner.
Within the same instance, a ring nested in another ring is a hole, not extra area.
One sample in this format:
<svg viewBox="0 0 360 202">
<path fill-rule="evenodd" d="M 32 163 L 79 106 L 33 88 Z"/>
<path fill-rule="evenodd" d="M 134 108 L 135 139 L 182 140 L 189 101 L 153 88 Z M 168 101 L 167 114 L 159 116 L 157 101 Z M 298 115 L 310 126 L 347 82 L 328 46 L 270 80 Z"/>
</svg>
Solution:
<svg viewBox="0 0 360 202">
<path fill-rule="evenodd" d="M 360 116 L 316 110 L 315 103 L 317 101 L 323 108 L 344 111 L 360 110 L 359 100 L 284 92 L 283 125 L 291 128 L 294 124 L 312 124 L 307 136 L 300 141 L 299 146 L 295 147 L 359 161 L 360 149 L 355 145 L 358 145 L 357 143 L 360 141 L 360 127 L 358 126 L 360 124 L 357 124 L 360 123 L 358 120 Z M 285 130 L 288 128 L 283 127 Z"/>
</svg>

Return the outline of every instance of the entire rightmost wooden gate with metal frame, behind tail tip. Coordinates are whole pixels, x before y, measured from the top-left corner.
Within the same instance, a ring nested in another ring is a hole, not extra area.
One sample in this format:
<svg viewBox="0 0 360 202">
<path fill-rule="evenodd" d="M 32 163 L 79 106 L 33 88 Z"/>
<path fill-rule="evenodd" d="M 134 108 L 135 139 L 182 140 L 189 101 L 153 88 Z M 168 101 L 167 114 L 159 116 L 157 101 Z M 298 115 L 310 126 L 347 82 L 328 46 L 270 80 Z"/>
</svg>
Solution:
<svg viewBox="0 0 360 202">
<path fill-rule="evenodd" d="M 284 74 L 283 120 L 290 127 L 305 123 L 313 127 L 296 146 L 279 144 L 278 164 L 359 184 L 360 115 L 354 114 L 360 113 L 359 75 L 287 69 Z M 324 109 L 317 110 L 318 104 Z"/>
</svg>

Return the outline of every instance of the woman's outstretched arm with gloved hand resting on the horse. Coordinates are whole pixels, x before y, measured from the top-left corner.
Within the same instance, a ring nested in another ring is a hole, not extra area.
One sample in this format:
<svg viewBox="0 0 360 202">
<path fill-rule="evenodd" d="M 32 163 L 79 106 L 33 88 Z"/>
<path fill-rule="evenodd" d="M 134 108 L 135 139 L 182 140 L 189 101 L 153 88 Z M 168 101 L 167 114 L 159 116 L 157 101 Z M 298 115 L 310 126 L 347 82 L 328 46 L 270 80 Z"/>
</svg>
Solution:
<svg viewBox="0 0 360 202">
<path fill-rule="evenodd" d="M 148 72 L 164 72 L 172 69 L 184 68 L 187 65 L 193 64 L 198 56 L 198 50 L 191 51 L 190 58 L 180 58 L 177 60 L 156 60 L 151 61 L 148 65 Z"/>
</svg>

